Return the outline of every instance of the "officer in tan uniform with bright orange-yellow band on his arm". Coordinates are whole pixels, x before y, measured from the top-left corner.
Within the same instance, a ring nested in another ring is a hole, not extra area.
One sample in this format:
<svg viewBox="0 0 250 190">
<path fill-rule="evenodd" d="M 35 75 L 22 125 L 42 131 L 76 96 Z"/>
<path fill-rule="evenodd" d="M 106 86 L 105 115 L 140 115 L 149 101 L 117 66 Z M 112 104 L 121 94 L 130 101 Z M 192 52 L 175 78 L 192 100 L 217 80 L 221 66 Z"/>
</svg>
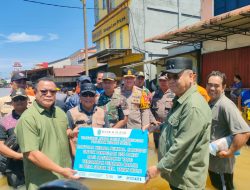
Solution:
<svg viewBox="0 0 250 190">
<path fill-rule="evenodd" d="M 127 99 L 129 107 L 127 128 L 141 129 L 149 124 L 149 103 L 147 97 L 143 96 L 143 90 L 135 86 L 135 71 L 131 68 L 123 70 L 124 85 L 116 90 Z"/>
</svg>

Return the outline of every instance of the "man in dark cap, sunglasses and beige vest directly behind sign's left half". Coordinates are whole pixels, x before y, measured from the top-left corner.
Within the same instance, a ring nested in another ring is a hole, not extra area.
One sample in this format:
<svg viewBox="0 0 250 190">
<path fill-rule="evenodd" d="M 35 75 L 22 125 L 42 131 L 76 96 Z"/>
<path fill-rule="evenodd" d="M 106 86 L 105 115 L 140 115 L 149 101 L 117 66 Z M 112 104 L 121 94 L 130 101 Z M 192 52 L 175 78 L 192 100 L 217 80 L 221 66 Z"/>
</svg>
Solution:
<svg viewBox="0 0 250 190">
<path fill-rule="evenodd" d="M 69 129 L 67 130 L 70 138 L 72 154 L 75 155 L 75 142 L 79 127 L 108 127 L 108 119 L 105 111 L 97 107 L 95 102 L 96 87 L 92 83 L 84 83 L 80 87 L 80 104 L 67 111 Z"/>
</svg>

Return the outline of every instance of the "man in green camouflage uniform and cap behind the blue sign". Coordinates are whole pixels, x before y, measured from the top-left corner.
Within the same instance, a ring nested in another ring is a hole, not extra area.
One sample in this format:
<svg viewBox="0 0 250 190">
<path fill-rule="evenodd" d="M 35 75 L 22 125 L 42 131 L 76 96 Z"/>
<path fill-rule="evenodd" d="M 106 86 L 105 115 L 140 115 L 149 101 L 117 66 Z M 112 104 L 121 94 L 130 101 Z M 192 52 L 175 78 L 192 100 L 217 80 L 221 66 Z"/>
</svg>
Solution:
<svg viewBox="0 0 250 190">
<path fill-rule="evenodd" d="M 102 80 L 104 92 L 100 95 L 97 105 L 108 115 L 110 127 L 123 128 L 128 122 L 129 110 L 126 98 L 115 91 L 116 75 L 104 73 Z"/>
</svg>

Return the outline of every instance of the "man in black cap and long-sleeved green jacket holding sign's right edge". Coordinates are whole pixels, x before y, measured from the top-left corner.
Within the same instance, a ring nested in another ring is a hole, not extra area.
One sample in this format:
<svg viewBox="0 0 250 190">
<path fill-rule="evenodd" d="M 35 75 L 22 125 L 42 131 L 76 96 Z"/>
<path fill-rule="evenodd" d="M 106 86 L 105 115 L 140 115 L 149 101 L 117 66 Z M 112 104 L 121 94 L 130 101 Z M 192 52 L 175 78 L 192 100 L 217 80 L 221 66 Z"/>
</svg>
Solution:
<svg viewBox="0 0 250 190">
<path fill-rule="evenodd" d="M 159 163 L 148 169 L 148 177 L 161 174 L 174 190 L 205 189 L 211 110 L 193 83 L 192 60 L 176 57 L 166 65 L 168 86 L 176 96 L 161 128 Z"/>
</svg>

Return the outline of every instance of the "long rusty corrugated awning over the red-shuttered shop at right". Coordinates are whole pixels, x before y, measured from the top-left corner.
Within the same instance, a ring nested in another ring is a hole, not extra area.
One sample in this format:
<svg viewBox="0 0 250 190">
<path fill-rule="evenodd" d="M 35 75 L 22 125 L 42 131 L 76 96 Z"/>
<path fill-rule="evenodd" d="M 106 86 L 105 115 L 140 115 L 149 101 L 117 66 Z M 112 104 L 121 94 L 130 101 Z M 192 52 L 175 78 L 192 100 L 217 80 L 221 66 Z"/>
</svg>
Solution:
<svg viewBox="0 0 250 190">
<path fill-rule="evenodd" d="M 148 38 L 145 42 L 178 45 L 197 44 L 207 40 L 226 42 L 226 37 L 233 34 L 250 36 L 250 5 Z"/>
</svg>

